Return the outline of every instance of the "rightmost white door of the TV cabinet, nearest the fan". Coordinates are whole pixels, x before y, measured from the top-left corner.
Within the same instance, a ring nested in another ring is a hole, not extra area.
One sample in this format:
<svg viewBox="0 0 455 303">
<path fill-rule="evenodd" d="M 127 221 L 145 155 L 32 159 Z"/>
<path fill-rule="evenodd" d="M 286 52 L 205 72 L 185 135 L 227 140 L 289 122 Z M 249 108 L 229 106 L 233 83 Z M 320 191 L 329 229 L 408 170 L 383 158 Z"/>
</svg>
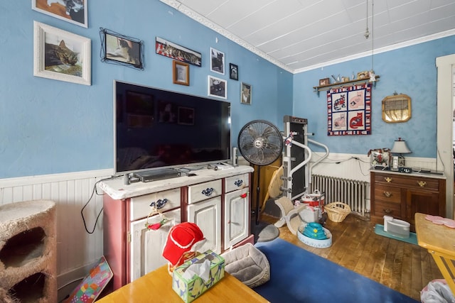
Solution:
<svg viewBox="0 0 455 303">
<path fill-rule="evenodd" d="M 240 189 L 225 194 L 225 249 L 247 238 L 249 227 L 250 194 Z"/>
</svg>

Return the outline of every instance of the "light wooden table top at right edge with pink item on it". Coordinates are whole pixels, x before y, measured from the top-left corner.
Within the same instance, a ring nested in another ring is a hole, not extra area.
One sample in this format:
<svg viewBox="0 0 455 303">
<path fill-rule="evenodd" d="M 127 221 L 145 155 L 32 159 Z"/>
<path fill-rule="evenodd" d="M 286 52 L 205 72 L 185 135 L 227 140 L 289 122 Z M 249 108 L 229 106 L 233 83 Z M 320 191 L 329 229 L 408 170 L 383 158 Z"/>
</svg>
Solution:
<svg viewBox="0 0 455 303">
<path fill-rule="evenodd" d="M 434 224 L 426 214 L 415 214 L 415 229 L 419 246 L 455 259 L 455 228 Z"/>
</svg>

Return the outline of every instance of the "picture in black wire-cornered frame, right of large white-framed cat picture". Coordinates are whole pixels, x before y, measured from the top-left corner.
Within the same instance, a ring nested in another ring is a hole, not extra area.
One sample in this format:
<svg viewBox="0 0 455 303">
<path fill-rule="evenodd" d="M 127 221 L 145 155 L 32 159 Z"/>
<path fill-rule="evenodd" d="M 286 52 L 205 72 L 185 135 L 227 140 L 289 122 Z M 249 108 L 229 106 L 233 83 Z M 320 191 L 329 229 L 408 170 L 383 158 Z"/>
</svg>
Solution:
<svg viewBox="0 0 455 303">
<path fill-rule="evenodd" d="M 101 61 L 144 70 L 143 41 L 101 28 Z"/>
</svg>

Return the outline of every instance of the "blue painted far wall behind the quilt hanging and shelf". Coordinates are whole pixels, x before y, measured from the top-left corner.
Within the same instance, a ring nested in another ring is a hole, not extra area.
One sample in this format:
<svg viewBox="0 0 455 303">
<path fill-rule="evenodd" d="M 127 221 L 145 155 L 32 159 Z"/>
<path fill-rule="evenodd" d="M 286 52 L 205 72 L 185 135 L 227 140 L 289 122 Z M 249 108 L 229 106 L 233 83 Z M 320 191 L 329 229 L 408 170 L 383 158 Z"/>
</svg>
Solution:
<svg viewBox="0 0 455 303">
<path fill-rule="evenodd" d="M 328 145 L 331 153 L 367 154 L 371 148 L 392 148 L 401 137 L 412 154 L 407 157 L 436 158 L 437 69 L 436 57 L 455 50 L 455 36 L 432 40 L 374 55 L 374 70 L 380 81 L 372 89 L 372 132 L 368 136 L 327 136 L 326 92 L 313 87 L 319 79 L 370 70 L 371 57 L 330 65 L 294 75 L 294 116 L 309 119 L 314 140 Z M 407 123 L 382 121 L 382 99 L 394 92 L 412 99 L 412 118 Z M 447 126 L 451 127 L 451 126 Z"/>
</svg>

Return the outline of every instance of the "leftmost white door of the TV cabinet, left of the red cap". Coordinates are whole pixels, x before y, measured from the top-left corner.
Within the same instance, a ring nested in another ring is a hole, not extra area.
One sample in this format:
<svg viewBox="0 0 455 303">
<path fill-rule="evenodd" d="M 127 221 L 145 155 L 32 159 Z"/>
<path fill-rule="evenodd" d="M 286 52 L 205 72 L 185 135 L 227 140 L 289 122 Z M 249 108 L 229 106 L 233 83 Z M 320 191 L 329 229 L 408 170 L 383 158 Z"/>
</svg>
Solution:
<svg viewBox="0 0 455 303">
<path fill-rule="evenodd" d="M 159 214 L 134 221 L 131 223 L 131 243 L 130 249 L 130 279 L 128 282 L 136 280 L 138 277 L 146 273 L 156 270 L 156 268 L 166 265 L 168 261 L 161 254 L 163 252 L 164 244 L 171 227 L 180 223 L 181 211 L 174 209 L 163 214 L 168 223 L 161 226 L 156 231 L 147 228 L 146 222 L 149 224 L 156 224 L 163 219 Z"/>
</svg>

